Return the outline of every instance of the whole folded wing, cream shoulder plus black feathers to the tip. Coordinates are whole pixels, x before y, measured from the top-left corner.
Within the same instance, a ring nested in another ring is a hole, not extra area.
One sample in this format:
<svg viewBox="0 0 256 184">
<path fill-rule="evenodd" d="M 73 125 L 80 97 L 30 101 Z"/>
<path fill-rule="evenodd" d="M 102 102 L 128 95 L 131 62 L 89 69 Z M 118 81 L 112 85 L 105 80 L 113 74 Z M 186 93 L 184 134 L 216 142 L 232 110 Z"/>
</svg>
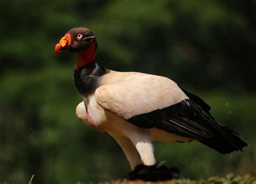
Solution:
<svg viewBox="0 0 256 184">
<path fill-rule="evenodd" d="M 140 128 L 197 139 L 224 154 L 247 145 L 236 132 L 215 121 L 203 100 L 185 93 L 166 77 L 138 74 L 99 87 L 95 96 L 101 107 Z"/>
</svg>

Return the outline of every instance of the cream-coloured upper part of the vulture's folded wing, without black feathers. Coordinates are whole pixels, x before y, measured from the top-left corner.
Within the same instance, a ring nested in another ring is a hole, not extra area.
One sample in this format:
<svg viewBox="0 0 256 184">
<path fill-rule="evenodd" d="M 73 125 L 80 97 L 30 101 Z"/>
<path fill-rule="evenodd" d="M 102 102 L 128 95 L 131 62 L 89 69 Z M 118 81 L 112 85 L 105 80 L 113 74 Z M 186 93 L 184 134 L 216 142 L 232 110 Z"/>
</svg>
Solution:
<svg viewBox="0 0 256 184">
<path fill-rule="evenodd" d="M 95 97 L 104 109 L 125 119 L 164 109 L 188 98 L 172 80 L 142 73 L 99 87 Z"/>
</svg>

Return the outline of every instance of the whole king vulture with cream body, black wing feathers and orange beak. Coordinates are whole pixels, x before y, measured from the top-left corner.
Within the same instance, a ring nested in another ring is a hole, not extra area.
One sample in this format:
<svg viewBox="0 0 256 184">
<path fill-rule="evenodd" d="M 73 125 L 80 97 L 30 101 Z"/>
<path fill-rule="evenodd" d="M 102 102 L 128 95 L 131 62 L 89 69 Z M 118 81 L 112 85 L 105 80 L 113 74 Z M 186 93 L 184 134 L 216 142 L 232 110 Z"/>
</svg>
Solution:
<svg viewBox="0 0 256 184">
<path fill-rule="evenodd" d="M 199 96 L 164 76 L 106 69 L 95 61 L 97 47 L 91 30 L 75 27 L 56 44 L 55 52 L 78 54 L 73 82 L 83 101 L 76 115 L 96 131 L 109 133 L 132 170 L 156 165 L 154 140 L 197 140 L 221 154 L 247 146 L 237 132 L 215 121 L 210 105 Z"/>
</svg>

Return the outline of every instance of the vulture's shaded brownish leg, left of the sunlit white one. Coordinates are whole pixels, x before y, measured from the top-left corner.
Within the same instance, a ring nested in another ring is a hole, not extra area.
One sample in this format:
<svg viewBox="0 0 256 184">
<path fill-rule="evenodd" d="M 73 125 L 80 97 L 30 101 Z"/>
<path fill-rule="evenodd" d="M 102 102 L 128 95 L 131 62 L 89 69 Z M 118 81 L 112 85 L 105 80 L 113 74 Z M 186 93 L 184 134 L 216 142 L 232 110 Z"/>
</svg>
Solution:
<svg viewBox="0 0 256 184">
<path fill-rule="evenodd" d="M 130 162 L 131 169 L 139 164 L 142 164 L 142 159 L 140 159 L 140 155 L 131 140 L 126 137 L 111 135 L 114 139 L 116 139 L 117 143 L 121 146 L 124 151 L 127 160 Z"/>
</svg>

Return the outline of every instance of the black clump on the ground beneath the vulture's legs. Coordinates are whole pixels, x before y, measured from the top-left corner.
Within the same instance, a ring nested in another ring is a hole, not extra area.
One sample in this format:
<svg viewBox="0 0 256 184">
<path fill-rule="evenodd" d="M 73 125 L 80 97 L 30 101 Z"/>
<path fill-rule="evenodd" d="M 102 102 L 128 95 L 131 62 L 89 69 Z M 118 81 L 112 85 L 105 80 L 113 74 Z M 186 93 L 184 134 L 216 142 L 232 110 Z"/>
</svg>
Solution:
<svg viewBox="0 0 256 184">
<path fill-rule="evenodd" d="M 172 179 L 181 179 L 182 176 L 177 167 L 167 168 L 163 162 L 158 162 L 153 166 L 137 165 L 127 176 L 126 180 L 143 181 L 166 181 Z"/>
</svg>

